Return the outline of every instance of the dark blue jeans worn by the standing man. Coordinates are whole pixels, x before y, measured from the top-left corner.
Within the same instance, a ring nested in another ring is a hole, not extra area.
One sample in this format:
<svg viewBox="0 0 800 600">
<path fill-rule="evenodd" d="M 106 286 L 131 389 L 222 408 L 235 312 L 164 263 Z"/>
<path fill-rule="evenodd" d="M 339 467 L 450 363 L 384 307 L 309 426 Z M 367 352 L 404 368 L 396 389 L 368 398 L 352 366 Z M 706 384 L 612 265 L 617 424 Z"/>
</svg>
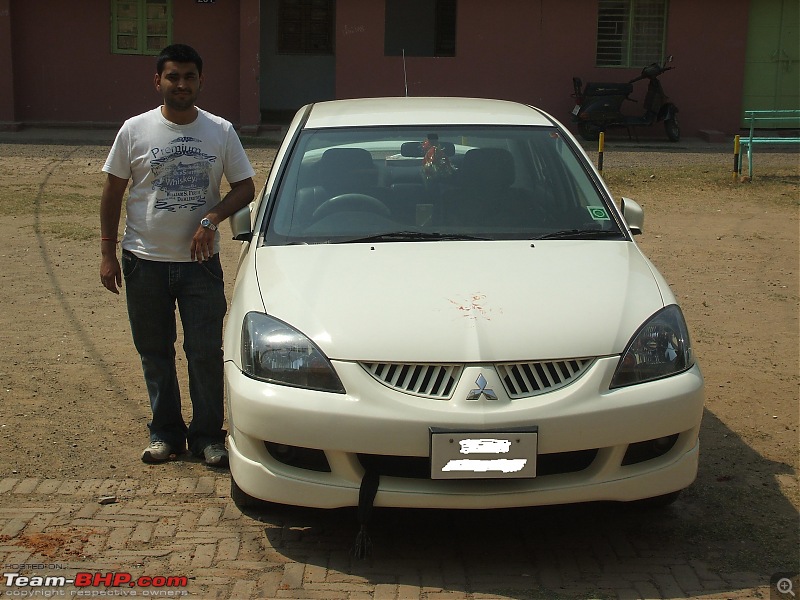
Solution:
<svg viewBox="0 0 800 600">
<path fill-rule="evenodd" d="M 157 262 L 122 252 L 133 343 L 142 359 L 153 420 L 150 441 L 200 456 L 225 441 L 222 320 L 227 303 L 219 255 L 206 262 Z M 175 367 L 175 304 L 183 326 L 192 420 L 181 414 Z"/>
</svg>

